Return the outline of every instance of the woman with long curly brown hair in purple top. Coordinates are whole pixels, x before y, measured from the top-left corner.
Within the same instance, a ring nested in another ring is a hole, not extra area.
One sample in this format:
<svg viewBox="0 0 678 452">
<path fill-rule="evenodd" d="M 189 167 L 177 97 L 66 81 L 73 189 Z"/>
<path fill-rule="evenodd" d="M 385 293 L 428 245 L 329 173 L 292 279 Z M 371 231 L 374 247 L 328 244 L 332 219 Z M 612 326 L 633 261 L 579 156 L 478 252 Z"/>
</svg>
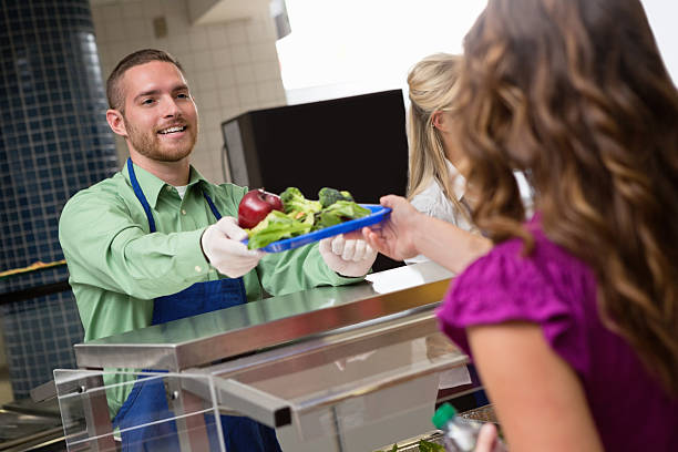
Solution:
<svg viewBox="0 0 678 452">
<path fill-rule="evenodd" d="M 494 245 L 438 315 L 511 450 L 678 450 L 678 92 L 640 2 L 490 0 L 455 103 Z M 452 225 L 382 204 L 373 247 L 456 261 Z"/>
</svg>

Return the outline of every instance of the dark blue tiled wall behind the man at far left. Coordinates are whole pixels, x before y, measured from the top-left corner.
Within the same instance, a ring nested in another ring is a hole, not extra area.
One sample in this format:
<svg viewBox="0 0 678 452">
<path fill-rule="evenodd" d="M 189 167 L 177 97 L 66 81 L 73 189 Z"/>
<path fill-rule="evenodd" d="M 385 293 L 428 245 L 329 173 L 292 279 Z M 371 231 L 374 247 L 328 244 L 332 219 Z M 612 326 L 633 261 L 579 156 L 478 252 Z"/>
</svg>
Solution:
<svg viewBox="0 0 678 452">
<path fill-rule="evenodd" d="M 117 170 L 88 0 L 0 2 L 0 270 L 63 258 L 66 199 Z M 2 294 L 68 277 L 64 267 L 0 280 Z M 0 304 L 17 399 L 74 367 L 82 327 L 70 291 Z"/>
</svg>

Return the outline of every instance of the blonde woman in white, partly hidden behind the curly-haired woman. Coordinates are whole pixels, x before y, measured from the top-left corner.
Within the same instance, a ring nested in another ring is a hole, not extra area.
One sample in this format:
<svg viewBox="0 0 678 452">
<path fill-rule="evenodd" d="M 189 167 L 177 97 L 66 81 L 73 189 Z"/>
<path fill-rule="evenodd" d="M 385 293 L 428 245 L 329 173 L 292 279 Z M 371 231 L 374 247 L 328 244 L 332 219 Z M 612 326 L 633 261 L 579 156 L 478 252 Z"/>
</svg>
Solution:
<svg viewBox="0 0 678 452">
<path fill-rule="evenodd" d="M 466 263 L 479 257 L 491 246 L 481 236 L 471 219 L 472 196 L 466 193 L 469 165 L 456 140 L 454 117 L 458 79 L 462 56 L 450 53 L 434 53 L 419 61 L 408 74 L 410 109 L 408 116 L 408 140 L 410 146 L 410 177 L 408 201 L 428 216 L 455 225 L 459 229 L 459 257 L 456 273 Z M 522 173 L 514 173 L 521 187 L 526 210 L 531 210 L 527 182 Z M 460 230 L 461 229 L 461 230 Z M 471 233 L 471 234 L 469 234 Z M 464 253 L 468 250 L 468 253 Z M 423 255 L 405 259 L 408 264 L 429 260 Z M 436 343 L 440 339 L 428 340 L 429 350 L 451 347 Z M 454 388 L 472 382 L 474 368 L 462 368 L 441 374 L 440 388 Z M 475 376 L 474 383 L 479 384 Z M 484 404 L 484 393 L 476 393 L 476 403 Z"/>
</svg>

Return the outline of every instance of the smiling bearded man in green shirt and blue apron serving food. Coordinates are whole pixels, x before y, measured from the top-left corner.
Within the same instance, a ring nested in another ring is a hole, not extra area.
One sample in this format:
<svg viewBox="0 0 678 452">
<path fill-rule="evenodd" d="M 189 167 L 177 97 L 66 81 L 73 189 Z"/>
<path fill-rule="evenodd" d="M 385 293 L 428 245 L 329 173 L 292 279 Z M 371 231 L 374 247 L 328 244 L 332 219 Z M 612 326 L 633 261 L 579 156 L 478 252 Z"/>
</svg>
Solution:
<svg viewBox="0 0 678 452">
<path fill-rule="evenodd" d="M 264 290 L 350 284 L 369 271 L 377 254 L 360 239 L 335 236 L 279 254 L 242 243 L 247 233 L 236 217 L 247 188 L 212 184 L 191 166 L 198 114 L 172 55 L 125 56 L 106 94 L 106 120 L 125 138 L 130 158 L 75 194 L 59 225 L 85 341 L 257 300 Z M 167 410 L 162 384 L 140 379 L 132 394 L 130 386 L 107 391 L 123 449 L 178 446 L 166 423 L 125 431 Z M 271 429 L 247 418 L 222 417 L 222 425 L 229 452 L 280 450 Z"/>
</svg>

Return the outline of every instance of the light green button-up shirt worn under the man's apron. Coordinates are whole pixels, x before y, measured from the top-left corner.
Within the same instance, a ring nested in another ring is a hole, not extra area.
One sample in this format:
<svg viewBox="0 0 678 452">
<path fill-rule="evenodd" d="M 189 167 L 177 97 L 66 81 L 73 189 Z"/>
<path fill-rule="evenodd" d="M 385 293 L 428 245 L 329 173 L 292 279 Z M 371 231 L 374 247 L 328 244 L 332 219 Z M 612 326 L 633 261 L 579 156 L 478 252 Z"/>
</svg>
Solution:
<svg viewBox="0 0 678 452">
<path fill-rule="evenodd" d="M 75 194 L 63 208 L 59 239 L 85 331 L 85 341 L 151 325 L 153 299 L 195 282 L 226 278 L 203 255 L 204 229 L 216 223 L 203 191 L 223 216 L 237 217 L 247 188 L 208 183 L 191 168 L 183 199 L 153 174 L 134 166 L 157 232 L 150 233 L 144 208 L 134 195 L 126 166 L 111 178 Z M 244 276 L 248 300 L 310 287 L 338 286 L 360 278 L 332 271 L 309 245 L 267 254 Z M 116 412 L 125 393 L 114 399 Z"/>
</svg>

